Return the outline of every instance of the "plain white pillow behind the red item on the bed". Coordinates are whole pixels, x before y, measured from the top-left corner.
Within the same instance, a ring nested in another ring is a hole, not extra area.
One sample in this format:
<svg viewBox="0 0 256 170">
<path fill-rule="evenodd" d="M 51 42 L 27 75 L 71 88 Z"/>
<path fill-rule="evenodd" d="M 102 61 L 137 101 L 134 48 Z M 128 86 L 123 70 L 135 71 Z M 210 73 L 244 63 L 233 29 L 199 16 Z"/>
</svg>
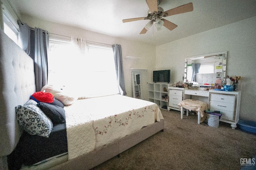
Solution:
<svg viewBox="0 0 256 170">
<path fill-rule="evenodd" d="M 66 88 L 65 86 L 45 85 L 41 92 L 53 94 L 54 98 L 62 102 L 64 105 L 71 105 L 78 99 L 75 90 Z"/>
</svg>

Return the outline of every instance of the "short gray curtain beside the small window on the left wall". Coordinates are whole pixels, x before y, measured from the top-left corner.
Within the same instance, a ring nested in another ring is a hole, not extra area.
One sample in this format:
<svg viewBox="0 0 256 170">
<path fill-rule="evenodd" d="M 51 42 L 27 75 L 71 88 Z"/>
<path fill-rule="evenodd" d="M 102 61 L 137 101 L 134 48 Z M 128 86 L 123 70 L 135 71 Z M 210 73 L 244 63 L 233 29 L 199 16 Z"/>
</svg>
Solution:
<svg viewBox="0 0 256 170">
<path fill-rule="evenodd" d="M 22 23 L 18 20 L 20 27 L 18 45 L 22 48 L 28 55 L 30 54 L 30 27 L 26 23 Z"/>
</svg>

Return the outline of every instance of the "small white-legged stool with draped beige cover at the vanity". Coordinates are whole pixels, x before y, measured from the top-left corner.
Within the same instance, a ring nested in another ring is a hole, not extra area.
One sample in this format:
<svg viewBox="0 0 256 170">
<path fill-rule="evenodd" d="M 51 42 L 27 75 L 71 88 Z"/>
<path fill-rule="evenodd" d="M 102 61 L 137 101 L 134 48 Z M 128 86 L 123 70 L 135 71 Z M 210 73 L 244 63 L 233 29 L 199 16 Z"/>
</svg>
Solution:
<svg viewBox="0 0 256 170">
<path fill-rule="evenodd" d="M 189 110 L 197 111 L 197 123 L 200 124 L 200 122 L 203 122 L 206 118 L 206 115 L 204 116 L 204 111 L 207 110 L 208 104 L 206 102 L 202 102 L 199 100 L 191 100 L 191 99 L 186 99 L 182 100 L 178 106 L 180 107 L 180 118 L 183 119 L 183 108 L 187 109 L 187 116 Z M 202 117 L 202 119 L 201 119 Z"/>
</svg>

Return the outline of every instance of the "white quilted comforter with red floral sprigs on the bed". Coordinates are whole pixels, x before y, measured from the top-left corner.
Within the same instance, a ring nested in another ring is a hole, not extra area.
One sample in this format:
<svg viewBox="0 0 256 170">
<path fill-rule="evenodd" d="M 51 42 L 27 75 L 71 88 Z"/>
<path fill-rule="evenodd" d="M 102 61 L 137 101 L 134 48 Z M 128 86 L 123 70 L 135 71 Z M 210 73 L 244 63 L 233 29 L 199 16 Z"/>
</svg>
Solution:
<svg viewBox="0 0 256 170">
<path fill-rule="evenodd" d="M 77 100 L 64 109 L 68 159 L 88 153 L 163 119 L 156 104 L 119 94 Z"/>
</svg>

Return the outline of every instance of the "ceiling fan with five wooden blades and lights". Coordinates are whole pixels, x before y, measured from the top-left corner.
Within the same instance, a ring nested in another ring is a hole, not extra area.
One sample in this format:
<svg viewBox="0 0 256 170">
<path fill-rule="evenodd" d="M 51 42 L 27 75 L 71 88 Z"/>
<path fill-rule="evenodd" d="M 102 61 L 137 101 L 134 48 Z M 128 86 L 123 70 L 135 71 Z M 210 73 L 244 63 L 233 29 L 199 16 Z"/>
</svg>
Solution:
<svg viewBox="0 0 256 170">
<path fill-rule="evenodd" d="M 150 20 L 147 25 L 142 29 L 140 34 L 146 33 L 153 25 L 153 22 L 156 22 L 156 29 L 161 29 L 162 26 L 168 28 L 170 31 L 172 31 L 174 28 L 178 27 L 178 25 L 165 20 L 163 17 L 172 16 L 176 14 L 182 14 L 185 12 L 193 11 L 193 4 L 190 2 L 188 4 L 178 6 L 176 8 L 167 10 L 164 12 L 163 8 L 159 7 L 160 4 L 159 0 L 146 0 L 146 3 L 148 4 L 149 12 L 146 17 L 140 17 L 140 18 L 130 18 L 125 19 L 123 22 L 130 22 L 130 21 L 138 21 L 138 20 Z"/>
</svg>

